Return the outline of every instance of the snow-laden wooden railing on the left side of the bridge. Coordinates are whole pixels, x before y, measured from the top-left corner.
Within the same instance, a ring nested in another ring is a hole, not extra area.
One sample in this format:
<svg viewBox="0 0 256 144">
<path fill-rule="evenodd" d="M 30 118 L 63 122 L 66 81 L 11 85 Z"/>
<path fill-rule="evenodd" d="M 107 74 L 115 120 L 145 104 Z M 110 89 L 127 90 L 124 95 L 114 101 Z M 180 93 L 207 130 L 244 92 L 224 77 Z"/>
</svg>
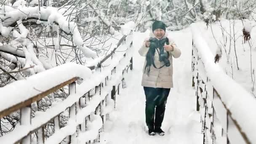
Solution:
<svg viewBox="0 0 256 144">
<path fill-rule="evenodd" d="M 20 112 L 20 125 L 1 136 L 0 144 L 31 144 L 32 141 L 38 144 L 99 142 L 107 115 L 116 105 L 115 97 L 119 95 L 120 84 L 123 85 L 123 75 L 133 68 L 131 35 L 125 35 L 117 45 L 128 47 L 128 50 L 123 52 L 124 55 L 121 53 L 122 56 L 111 53 L 108 58 L 113 62 L 108 67 L 101 68 L 107 59 L 102 59 L 96 67 L 90 68 L 67 63 L 0 88 L 0 119 L 12 112 Z M 94 72 L 91 73 L 91 70 Z M 83 83 L 81 80 L 84 80 Z M 76 82 L 80 85 L 76 85 Z M 44 112 L 35 112 L 32 118 L 32 104 L 66 85 L 69 85 L 66 99 L 52 103 Z M 60 125 L 60 115 L 67 111 L 65 115 L 69 119 L 65 125 Z M 46 139 L 45 125 L 48 123 L 52 123 L 54 129 L 53 134 Z M 32 134 L 35 134 L 34 138 Z"/>
</svg>

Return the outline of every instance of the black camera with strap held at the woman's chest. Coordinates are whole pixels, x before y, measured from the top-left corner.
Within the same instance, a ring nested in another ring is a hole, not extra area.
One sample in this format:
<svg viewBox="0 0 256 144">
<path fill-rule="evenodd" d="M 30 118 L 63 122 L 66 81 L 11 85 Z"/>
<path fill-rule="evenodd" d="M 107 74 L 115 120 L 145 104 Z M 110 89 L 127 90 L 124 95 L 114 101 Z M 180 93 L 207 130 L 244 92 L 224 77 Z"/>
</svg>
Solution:
<svg viewBox="0 0 256 144">
<path fill-rule="evenodd" d="M 167 52 L 164 51 L 163 46 L 165 45 L 165 42 L 167 45 L 169 45 L 169 39 L 166 37 L 162 40 L 158 40 L 157 38 L 149 38 L 149 48 L 159 48 L 159 61 L 163 61 L 166 67 L 170 67 L 171 63 L 169 61 L 169 55 Z"/>
</svg>

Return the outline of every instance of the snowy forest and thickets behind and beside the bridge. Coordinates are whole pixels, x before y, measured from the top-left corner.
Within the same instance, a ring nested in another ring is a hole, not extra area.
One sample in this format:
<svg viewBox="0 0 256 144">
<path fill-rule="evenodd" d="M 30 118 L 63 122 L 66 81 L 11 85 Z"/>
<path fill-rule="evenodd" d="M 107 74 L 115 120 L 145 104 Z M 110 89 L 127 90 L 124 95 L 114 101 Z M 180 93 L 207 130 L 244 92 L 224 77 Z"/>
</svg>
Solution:
<svg viewBox="0 0 256 144">
<path fill-rule="evenodd" d="M 90 66 L 106 56 L 120 33 L 127 35 L 129 26 L 144 32 L 154 20 L 162 20 L 170 31 L 196 22 L 227 75 L 256 97 L 256 0 L 0 0 L 0 4 L 0 87 L 70 61 Z M 32 110 L 48 109 L 54 99 L 65 99 L 67 91 L 53 95 Z M 12 131 L 19 118 L 16 112 L 0 119 L 0 136 Z M 66 119 L 62 115 L 62 125 Z M 53 125 L 45 129 L 45 136 L 50 136 Z"/>
</svg>

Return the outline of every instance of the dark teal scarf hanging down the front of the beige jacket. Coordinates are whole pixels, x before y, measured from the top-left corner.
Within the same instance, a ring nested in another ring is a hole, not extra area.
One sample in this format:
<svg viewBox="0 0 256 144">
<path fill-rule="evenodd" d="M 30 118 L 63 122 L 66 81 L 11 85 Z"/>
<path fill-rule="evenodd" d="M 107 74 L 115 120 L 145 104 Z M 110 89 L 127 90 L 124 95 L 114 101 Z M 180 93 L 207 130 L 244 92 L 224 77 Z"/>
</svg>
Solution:
<svg viewBox="0 0 256 144">
<path fill-rule="evenodd" d="M 156 48 L 160 48 L 160 43 L 165 43 L 166 39 L 162 38 L 161 40 L 158 40 L 158 43 L 150 43 L 149 51 L 147 52 L 146 55 L 146 66 L 144 69 L 144 72 L 147 71 L 147 75 L 149 75 L 150 72 L 150 66 L 153 64 L 155 61 L 155 50 Z"/>
</svg>

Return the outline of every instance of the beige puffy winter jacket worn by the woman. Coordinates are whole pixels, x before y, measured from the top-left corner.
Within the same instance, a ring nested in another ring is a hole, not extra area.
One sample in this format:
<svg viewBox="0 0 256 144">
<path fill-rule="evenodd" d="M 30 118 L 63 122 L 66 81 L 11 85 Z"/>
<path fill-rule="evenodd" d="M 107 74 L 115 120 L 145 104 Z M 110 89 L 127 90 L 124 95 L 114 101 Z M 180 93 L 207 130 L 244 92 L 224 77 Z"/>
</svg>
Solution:
<svg viewBox="0 0 256 144">
<path fill-rule="evenodd" d="M 165 33 L 165 36 L 163 38 L 166 38 L 167 36 L 168 34 Z M 153 32 L 150 33 L 150 37 L 155 37 Z M 148 39 L 149 38 L 147 38 L 146 40 Z M 169 38 L 169 43 L 170 45 L 173 46 L 173 51 L 169 51 L 170 53 L 169 61 L 171 63 L 171 66 L 170 67 L 164 66 L 160 69 L 156 69 L 153 65 L 151 65 L 149 75 L 147 75 L 147 70 L 145 72 L 145 66 L 147 63 L 146 55 L 147 55 L 147 52 L 149 51 L 149 48 L 146 47 L 145 41 L 141 46 L 141 48 L 139 49 L 139 54 L 141 56 L 145 56 L 141 85 L 146 87 L 152 87 L 152 88 L 173 88 L 173 64 L 172 64 L 173 58 L 172 57 L 179 58 L 179 56 L 181 55 L 181 51 L 179 50 L 179 48 L 176 47 L 176 44 L 174 43 L 174 41 L 171 38 Z M 164 64 L 163 61 L 161 62 L 159 61 L 159 55 L 157 51 L 155 51 L 154 62 L 157 68 L 163 66 Z"/>
</svg>

